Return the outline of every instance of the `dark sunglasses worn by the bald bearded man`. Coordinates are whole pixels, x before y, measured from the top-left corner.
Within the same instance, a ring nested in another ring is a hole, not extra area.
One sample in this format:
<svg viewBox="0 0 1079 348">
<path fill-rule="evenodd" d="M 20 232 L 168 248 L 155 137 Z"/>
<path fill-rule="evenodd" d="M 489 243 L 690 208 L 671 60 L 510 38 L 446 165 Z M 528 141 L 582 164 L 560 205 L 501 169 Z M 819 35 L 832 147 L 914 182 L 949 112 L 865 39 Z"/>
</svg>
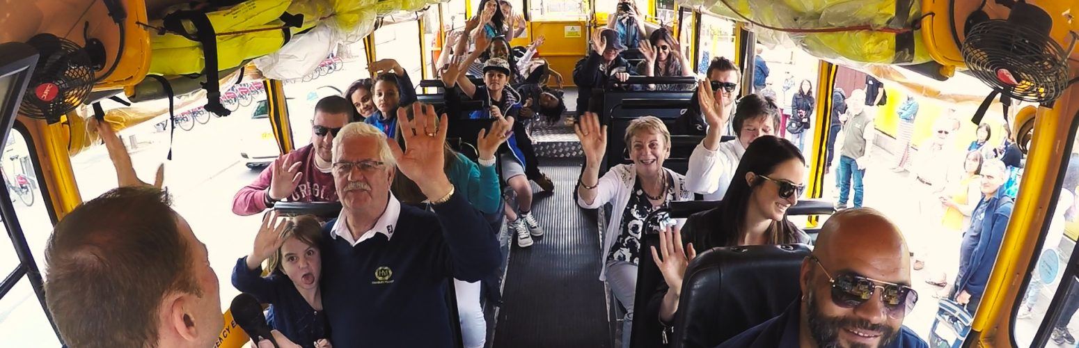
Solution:
<svg viewBox="0 0 1079 348">
<path fill-rule="evenodd" d="M 861 306 L 866 301 L 870 301 L 870 298 L 873 298 L 873 293 L 877 289 L 880 289 L 880 301 L 888 311 L 888 317 L 902 319 L 907 312 L 914 310 L 914 304 L 918 302 L 918 292 L 911 289 L 911 287 L 880 281 L 857 274 L 842 274 L 833 278 L 828 273 L 828 269 L 824 269 L 824 265 L 820 263 L 820 259 L 817 259 L 816 255 L 809 255 L 809 260 L 817 263 L 820 269 L 824 272 L 824 275 L 828 276 L 829 282 L 832 283 L 832 303 L 836 306 L 843 308 Z"/>
</svg>

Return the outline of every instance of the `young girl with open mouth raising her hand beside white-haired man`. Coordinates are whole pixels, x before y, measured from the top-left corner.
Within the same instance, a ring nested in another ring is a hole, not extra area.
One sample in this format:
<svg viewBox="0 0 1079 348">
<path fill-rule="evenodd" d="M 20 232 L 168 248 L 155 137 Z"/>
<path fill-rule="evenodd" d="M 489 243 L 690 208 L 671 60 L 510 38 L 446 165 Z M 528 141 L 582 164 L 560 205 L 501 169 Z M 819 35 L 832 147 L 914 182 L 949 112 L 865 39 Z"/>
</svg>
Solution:
<svg viewBox="0 0 1079 348">
<path fill-rule="evenodd" d="M 312 215 L 288 220 L 270 212 L 262 219 L 251 253 L 240 257 L 232 269 L 232 286 L 271 304 L 271 326 L 303 347 L 331 347 L 318 288 L 322 229 Z M 265 260 L 270 275 L 262 277 Z"/>
</svg>

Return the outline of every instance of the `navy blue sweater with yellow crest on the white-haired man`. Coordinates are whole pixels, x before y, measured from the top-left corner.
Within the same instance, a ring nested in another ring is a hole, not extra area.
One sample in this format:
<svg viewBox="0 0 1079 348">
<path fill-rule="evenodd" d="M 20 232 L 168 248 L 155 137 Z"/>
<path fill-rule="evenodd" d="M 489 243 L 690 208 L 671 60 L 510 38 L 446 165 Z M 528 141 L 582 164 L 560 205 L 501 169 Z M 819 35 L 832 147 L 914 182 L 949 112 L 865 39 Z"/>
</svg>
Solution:
<svg viewBox="0 0 1079 348">
<path fill-rule="evenodd" d="M 401 205 L 393 238 L 323 238 L 323 306 L 334 347 L 452 347 L 446 284 L 498 267 L 491 225 L 459 191 L 434 213 Z"/>
</svg>

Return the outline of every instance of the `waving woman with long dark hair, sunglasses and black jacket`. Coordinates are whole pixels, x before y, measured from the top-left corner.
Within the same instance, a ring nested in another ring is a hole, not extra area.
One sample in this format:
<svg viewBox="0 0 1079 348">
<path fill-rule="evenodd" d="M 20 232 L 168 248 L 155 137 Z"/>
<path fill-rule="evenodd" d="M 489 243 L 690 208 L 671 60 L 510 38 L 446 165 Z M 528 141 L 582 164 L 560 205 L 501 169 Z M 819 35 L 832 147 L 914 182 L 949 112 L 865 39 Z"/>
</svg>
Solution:
<svg viewBox="0 0 1079 348">
<path fill-rule="evenodd" d="M 659 319 L 670 323 L 682 292 L 682 276 L 695 250 L 715 247 L 808 242 L 809 236 L 787 219 L 805 189 L 805 158 L 787 139 L 763 136 L 753 140 L 735 170 L 723 201 L 715 208 L 689 215 L 681 234 L 660 234 L 660 248 L 668 254 L 652 256 L 664 275 L 648 309 L 658 308 Z M 683 249 L 682 240 L 687 241 Z"/>
</svg>

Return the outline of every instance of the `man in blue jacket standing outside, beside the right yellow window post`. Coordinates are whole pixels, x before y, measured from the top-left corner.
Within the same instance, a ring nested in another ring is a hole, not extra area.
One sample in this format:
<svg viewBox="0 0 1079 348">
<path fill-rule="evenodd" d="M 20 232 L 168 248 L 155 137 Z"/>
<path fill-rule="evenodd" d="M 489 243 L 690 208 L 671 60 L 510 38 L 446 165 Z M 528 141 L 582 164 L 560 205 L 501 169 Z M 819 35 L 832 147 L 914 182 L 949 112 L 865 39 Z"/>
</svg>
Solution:
<svg viewBox="0 0 1079 348">
<path fill-rule="evenodd" d="M 970 225 L 959 245 L 959 273 L 955 280 L 955 302 L 966 305 L 971 315 L 978 310 L 1000 251 L 1015 198 L 1000 187 L 1008 181 L 1008 169 L 999 159 L 982 164 L 982 199 L 970 214 Z"/>
</svg>

